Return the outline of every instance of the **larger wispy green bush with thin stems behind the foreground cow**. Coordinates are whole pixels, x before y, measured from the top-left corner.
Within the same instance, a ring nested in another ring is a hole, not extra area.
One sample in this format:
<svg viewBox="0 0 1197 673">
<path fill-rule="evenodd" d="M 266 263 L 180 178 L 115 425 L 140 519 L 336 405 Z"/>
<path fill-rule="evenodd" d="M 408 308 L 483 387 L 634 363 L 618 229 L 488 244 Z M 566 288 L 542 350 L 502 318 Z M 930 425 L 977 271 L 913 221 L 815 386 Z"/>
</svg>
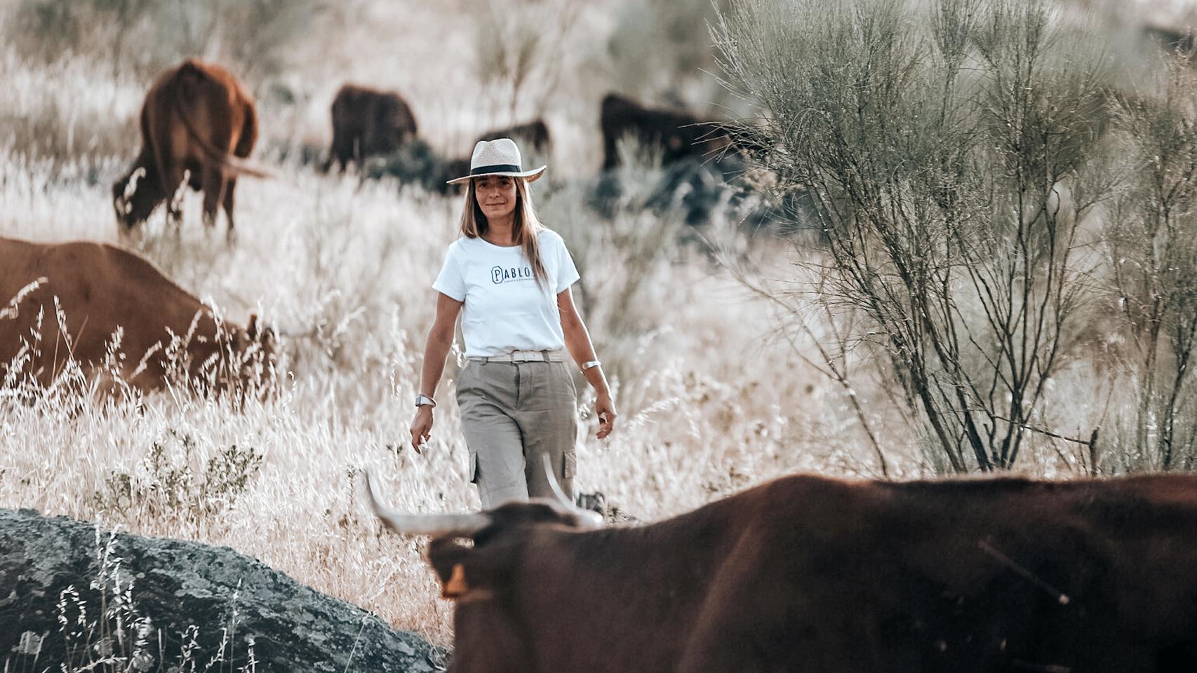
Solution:
<svg viewBox="0 0 1197 673">
<path fill-rule="evenodd" d="M 844 338 L 883 354 L 942 469 L 1013 466 L 1052 433 L 1083 222 L 1116 179 L 1101 60 L 1043 1 L 739 0 L 716 32 L 822 234 L 812 295 L 863 318 Z"/>
</svg>

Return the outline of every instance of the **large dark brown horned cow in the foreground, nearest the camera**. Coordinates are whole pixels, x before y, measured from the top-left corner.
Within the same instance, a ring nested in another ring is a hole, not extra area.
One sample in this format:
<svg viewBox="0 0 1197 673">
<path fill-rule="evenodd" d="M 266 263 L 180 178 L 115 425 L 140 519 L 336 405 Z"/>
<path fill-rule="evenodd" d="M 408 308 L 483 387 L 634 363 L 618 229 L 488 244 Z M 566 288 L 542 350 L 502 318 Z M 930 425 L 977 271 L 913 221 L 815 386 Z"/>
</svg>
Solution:
<svg viewBox="0 0 1197 673">
<path fill-rule="evenodd" d="M 1193 476 L 795 476 L 607 530 L 375 512 L 433 536 L 454 673 L 1197 669 Z"/>
</svg>

